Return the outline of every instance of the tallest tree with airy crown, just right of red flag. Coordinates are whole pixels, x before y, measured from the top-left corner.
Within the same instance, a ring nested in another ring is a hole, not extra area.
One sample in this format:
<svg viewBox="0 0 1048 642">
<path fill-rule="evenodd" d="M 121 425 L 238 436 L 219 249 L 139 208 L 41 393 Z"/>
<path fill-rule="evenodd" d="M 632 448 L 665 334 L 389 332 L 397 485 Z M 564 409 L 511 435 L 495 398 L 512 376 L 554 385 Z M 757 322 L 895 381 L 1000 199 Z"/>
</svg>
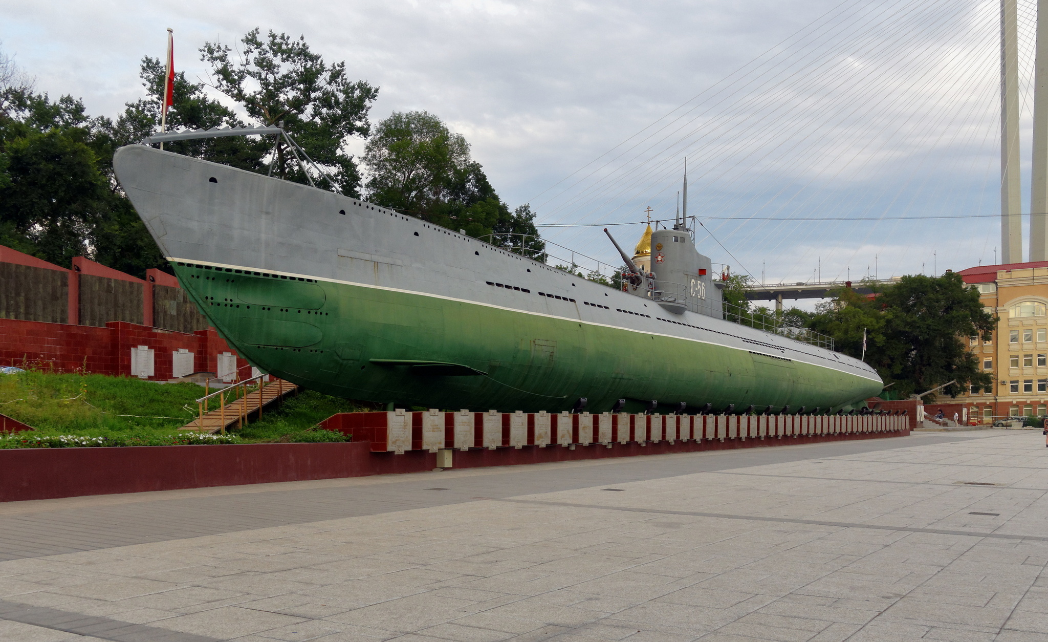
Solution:
<svg viewBox="0 0 1048 642">
<path fill-rule="evenodd" d="M 219 42 L 200 48 L 200 59 L 212 66 L 214 87 L 263 125 L 283 123 L 316 163 L 334 170 L 336 191 L 357 196 L 361 176 L 346 145 L 350 136 L 369 134 L 368 111 L 378 88 L 351 81 L 345 62 L 325 63 L 304 36 L 293 39 L 270 30 L 263 38 L 256 27 L 240 43 L 236 57 Z M 305 183 L 294 152 L 282 141 L 270 163 L 282 178 Z"/>
</svg>

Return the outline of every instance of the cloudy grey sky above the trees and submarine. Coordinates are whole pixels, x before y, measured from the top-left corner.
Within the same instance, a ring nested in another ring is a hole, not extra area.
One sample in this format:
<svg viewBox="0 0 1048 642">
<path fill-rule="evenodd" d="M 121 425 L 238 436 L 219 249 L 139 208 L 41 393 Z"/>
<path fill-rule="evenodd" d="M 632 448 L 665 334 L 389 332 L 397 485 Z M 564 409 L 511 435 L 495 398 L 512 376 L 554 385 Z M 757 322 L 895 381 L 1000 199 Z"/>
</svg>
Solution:
<svg viewBox="0 0 1048 642">
<path fill-rule="evenodd" d="M 542 222 L 639 220 L 648 205 L 672 216 L 687 154 L 697 158 L 690 213 L 728 217 L 706 219 L 719 242 L 700 233 L 700 249 L 737 271 L 793 281 L 811 279 L 820 264 L 824 279 L 858 279 L 875 263 L 882 277 L 990 263 L 1000 244 L 992 218 L 756 220 L 999 212 L 997 5 L 930 0 L 918 3 L 923 15 L 892 13 L 904 4 L 914 3 L 0 0 L 0 41 L 39 90 L 71 93 L 91 114 L 114 116 L 143 97 L 138 61 L 162 57 L 166 27 L 175 31 L 176 68 L 202 80 L 197 49 L 205 41 L 232 44 L 255 26 L 301 34 L 326 60 L 345 60 L 351 77 L 380 88 L 372 121 L 398 110 L 437 114 L 465 135 L 502 198 L 530 201 Z M 876 10 L 861 8 L 870 6 Z M 830 26 L 840 28 L 811 42 L 835 48 L 804 52 L 807 45 L 789 40 L 834 10 L 839 20 Z M 909 30 L 892 30 L 900 24 Z M 750 61 L 771 69 L 766 52 L 784 40 L 780 54 L 801 52 L 776 71 L 779 85 L 754 85 L 741 103 L 667 130 L 676 133 L 647 156 L 634 150 L 593 164 L 719 81 L 743 78 L 738 70 Z M 897 52 L 894 67 L 872 40 Z M 925 78 L 914 68 L 935 82 L 914 82 Z M 840 79 L 861 82 L 849 88 Z M 891 101 L 871 111 L 877 97 Z M 641 169 L 646 178 L 632 180 Z M 640 230 L 615 229 L 624 244 Z M 544 234 L 615 260 L 599 228 Z"/>
</svg>

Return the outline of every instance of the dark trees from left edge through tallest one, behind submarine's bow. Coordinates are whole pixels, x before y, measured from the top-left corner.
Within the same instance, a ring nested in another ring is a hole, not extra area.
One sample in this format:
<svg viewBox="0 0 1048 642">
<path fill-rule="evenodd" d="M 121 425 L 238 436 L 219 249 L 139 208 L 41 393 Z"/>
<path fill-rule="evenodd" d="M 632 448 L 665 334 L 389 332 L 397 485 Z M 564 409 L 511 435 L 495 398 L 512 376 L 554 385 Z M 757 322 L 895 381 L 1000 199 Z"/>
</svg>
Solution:
<svg viewBox="0 0 1048 642">
<path fill-rule="evenodd" d="M 334 168 L 337 188 L 356 195 L 359 177 L 344 143 L 349 135 L 367 134 L 367 111 L 377 89 L 346 80 L 344 63 L 325 64 L 302 38 L 270 33 L 263 40 L 255 29 L 242 42 L 246 58 L 240 61 L 219 44 L 201 50 L 217 64 L 219 88 L 241 99 L 248 115 L 265 124 L 272 122 L 266 114 L 280 115 L 314 159 Z M 170 270 L 112 169 L 116 149 L 159 129 L 163 64 L 146 57 L 139 76 L 145 98 L 128 103 L 113 122 L 88 116 L 72 97 L 36 93 L 0 51 L 0 244 L 64 266 L 81 255 L 139 277 L 150 268 Z M 176 74 L 170 128 L 243 124 L 233 109 L 209 97 L 204 84 Z M 269 170 L 274 149 L 271 141 L 242 136 L 165 147 L 256 172 Z M 305 181 L 284 151 L 277 150 L 275 169 Z"/>
</svg>

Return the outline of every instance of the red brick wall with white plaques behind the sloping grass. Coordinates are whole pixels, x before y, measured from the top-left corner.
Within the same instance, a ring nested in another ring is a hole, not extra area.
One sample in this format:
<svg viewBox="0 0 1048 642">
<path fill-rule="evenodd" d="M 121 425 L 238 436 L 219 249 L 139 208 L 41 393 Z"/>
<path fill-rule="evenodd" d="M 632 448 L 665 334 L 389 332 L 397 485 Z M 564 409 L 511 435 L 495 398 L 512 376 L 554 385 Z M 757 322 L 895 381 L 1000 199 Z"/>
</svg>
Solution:
<svg viewBox="0 0 1048 642">
<path fill-rule="evenodd" d="M 192 335 L 147 327 L 126 321 L 110 321 L 106 327 L 0 319 L 0 365 L 73 371 L 86 367 L 100 374 L 130 376 L 131 348 L 146 345 L 154 350 L 154 376 L 172 377 L 172 352 L 185 348 L 195 355 L 194 369 L 215 372 L 219 352 L 235 352 L 214 329 Z M 241 378 L 249 377 L 249 364 L 237 359 Z"/>
</svg>

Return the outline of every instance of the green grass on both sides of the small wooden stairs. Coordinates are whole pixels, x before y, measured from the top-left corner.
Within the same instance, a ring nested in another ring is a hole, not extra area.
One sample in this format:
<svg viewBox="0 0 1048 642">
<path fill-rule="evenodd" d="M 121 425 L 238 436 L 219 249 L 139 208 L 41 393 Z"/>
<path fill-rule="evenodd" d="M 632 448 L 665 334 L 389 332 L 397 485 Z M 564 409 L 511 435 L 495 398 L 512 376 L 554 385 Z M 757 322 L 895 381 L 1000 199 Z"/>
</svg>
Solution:
<svg viewBox="0 0 1048 642">
<path fill-rule="evenodd" d="M 0 412 L 36 428 L 22 436 L 94 437 L 88 443 L 62 445 L 161 445 L 193 442 L 177 429 L 196 416 L 196 400 L 204 394 L 196 384 L 157 384 L 127 377 L 54 373 L 26 370 L 0 374 Z M 237 443 L 345 441 L 339 433 L 313 429 L 335 412 L 371 410 L 370 405 L 305 390 L 270 406 L 262 421 L 242 431 L 232 430 Z M 101 437 L 101 441 L 99 440 Z M 6 440 L 0 447 L 20 447 Z M 36 442 L 40 442 L 39 438 Z M 199 442 L 199 441 L 198 441 Z M 44 445 L 44 444 L 39 444 Z"/>
</svg>

